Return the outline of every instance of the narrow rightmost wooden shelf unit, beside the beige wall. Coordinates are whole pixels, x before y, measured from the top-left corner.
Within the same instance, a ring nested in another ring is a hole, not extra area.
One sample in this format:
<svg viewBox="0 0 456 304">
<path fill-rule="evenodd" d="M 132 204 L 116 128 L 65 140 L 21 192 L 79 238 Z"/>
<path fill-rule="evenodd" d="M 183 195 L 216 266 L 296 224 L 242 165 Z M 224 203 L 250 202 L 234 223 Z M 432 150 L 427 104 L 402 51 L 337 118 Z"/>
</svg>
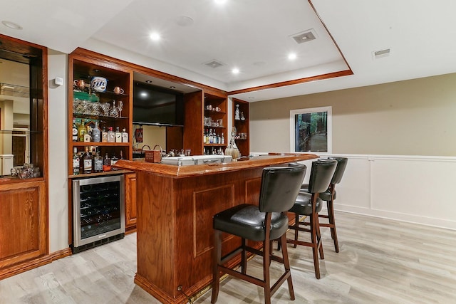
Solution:
<svg viewBox="0 0 456 304">
<path fill-rule="evenodd" d="M 249 156 L 249 103 L 233 98 L 233 125 L 236 127 L 234 137 L 241 156 Z"/>
</svg>

